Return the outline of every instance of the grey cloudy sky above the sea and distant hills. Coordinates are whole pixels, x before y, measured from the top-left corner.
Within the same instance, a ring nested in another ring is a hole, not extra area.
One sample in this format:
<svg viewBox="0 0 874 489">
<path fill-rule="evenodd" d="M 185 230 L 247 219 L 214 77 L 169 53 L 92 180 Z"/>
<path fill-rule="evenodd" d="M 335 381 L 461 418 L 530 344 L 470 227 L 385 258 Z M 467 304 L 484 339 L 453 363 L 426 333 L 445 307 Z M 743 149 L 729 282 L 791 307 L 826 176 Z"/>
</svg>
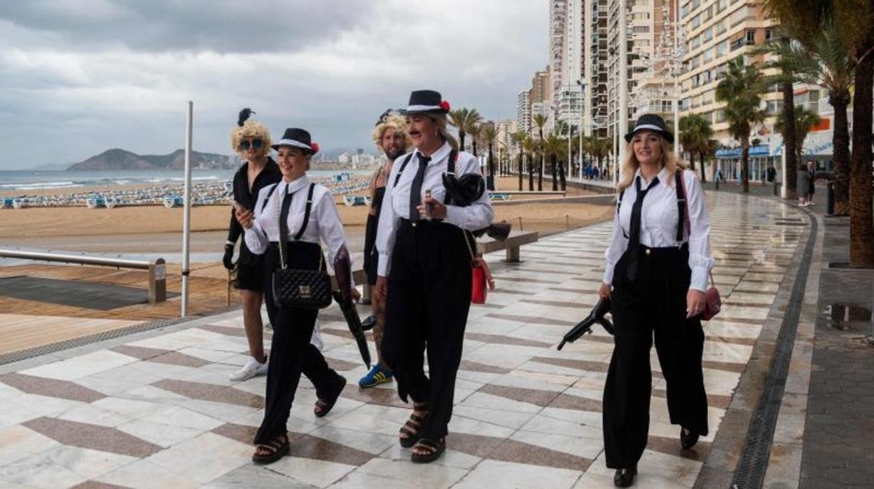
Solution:
<svg viewBox="0 0 874 489">
<path fill-rule="evenodd" d="M 546 64 L 545 0 L 0 2 L 0 170 L 109 148 L 230 153 L 239 108 L 326 150 L 370 146 L 385 108 L 435 88 L 515 117 Z"/>
</svg>

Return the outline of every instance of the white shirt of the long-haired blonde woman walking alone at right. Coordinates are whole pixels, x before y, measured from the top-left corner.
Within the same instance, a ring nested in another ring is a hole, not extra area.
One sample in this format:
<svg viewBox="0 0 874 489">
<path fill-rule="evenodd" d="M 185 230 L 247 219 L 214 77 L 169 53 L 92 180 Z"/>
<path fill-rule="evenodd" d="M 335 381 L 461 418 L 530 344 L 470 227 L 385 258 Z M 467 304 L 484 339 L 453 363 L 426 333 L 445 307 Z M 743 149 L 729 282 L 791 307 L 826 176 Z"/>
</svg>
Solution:
<svg viewBox="0 0 874 489">
<path fill-rule="evenodd" d="M 652 180 L 643 179 L 640 169 L 635 173 L 635 179 L 641 178 L 641 190 L 652 185 Z M 692 270 L 690 289 L 707 290 L 707 275 L 713 268 L 710 253 L 710 217 L 704 202 L 704 190 L 694 171 L 683 171 L 683 182 L 686 191 L 686 203 L 689 206 L 690 235 L 686 235 L 685 223 L 681 242 L 676 241 L 676 226 L 679 213 L 676 206 L 676 178 L 669 175 L 666 168 L 658 173 L 659 183 L 647 192 L 641 208 L 641 244 L 649 248 L 679 247 L 683 242 L 689 242 L 689 268 Z M 631 208 L 637 200 L 634 180 L 625 189 L 619 212 L 615 213 L 613 237 L 604 255 L 607 264 L 604 269 L 604 282 L 613 283 L 613 270 L 616 262 L 628 248 L 628 233 L 631 227 Z M 618 205 L 618 202 L 617 202 Z"/>
</svg>

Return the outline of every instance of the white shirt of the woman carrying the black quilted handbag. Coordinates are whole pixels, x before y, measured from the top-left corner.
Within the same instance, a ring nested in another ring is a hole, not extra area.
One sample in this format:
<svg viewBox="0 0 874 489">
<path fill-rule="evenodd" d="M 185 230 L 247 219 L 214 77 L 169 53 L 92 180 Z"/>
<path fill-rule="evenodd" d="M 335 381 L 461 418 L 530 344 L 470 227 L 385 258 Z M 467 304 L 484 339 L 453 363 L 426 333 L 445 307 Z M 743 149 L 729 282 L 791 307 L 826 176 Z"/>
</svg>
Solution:
<svg viewBox="0 0 874 489">
<path fill-rule="evenodd" d="M 306 213 L 309 184 L 309 177 L 305 175 L 290 183 L 282 180 L 276 184 L 279 186 L 270 195 L 270 199 L 267 199 L 267 194 L 274 188 L 274 185 L 267 185 L 261 189 L 255 204 L 255 218 L 252 227 L 246 229 L 245 234 L 246 246 L 253 253 L 262 255 L 267 251 L 267 245 L 270 241 L 281 241 L 279 239 L 279 213 L 282 196 L 285 193 L 293 194 L 291 206 L 288 207 L 288 236 L 285 239 L 286 241 L 294 240 L 295 235 L 301 229 L 303 215 Z M 267 205 L 264 203 L 265 199 L 267 199 Z M 343 235 L 343 222 L 340 220 L 340 214 L 336 211 L 336 204 L 331 192 L 322 185 L 316 185 L 316 188 L 313 189 L 313 206 L 309 213 L 309 224 L 300 241 L 319 244 L 320 239 L 328 245 L 329 263 L 333 263 L 340 247 L 346 244 Z M 351 255 L 349 260 L 351 273 Z M 351 281 L 350 284 L 355 286 L 354 281 Z"/>
</svg>

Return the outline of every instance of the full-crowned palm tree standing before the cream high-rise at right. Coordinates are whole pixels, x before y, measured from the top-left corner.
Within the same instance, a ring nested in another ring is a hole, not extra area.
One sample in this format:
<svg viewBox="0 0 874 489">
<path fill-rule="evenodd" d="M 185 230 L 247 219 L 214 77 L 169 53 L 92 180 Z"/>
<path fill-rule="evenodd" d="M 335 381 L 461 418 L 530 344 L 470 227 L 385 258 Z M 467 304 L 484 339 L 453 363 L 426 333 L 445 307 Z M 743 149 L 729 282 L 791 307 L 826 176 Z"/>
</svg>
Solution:
<svg viewBox="0 0 874 489">
<path fill-rule="evenodd" d="M 725 78 L 716 87 L 716 99 L 726 102 L 725 119 L 729 132 L 738 140 L 742 150 L 740 169 L 744 193 L 750 192 L 750 130 L 766 117 L 766 112 L 759 108 L 764 88 L 764 77 L 759 68 L 744 66 L 742 56 L 728 62 Z"/>
</svg>

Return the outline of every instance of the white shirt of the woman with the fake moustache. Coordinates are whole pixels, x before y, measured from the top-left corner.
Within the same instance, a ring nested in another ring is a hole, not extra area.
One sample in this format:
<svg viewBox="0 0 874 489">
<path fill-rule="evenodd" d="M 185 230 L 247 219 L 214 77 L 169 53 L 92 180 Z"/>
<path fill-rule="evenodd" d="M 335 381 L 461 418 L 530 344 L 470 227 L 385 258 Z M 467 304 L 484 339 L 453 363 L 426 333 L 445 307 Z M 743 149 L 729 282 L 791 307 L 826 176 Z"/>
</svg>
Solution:
<svg viewBox="0 0 874 489">
<path fill-rule="evenodd" d="M 431 190 L 431 197 L 439 202 L 446 200 L 446 188 L 443 187 L 443 172 L 447 171 L 449 153 L 452 147 L 449 143 L 443 143 L 440 150 L 434 151 L 431 161 L 425 169 L 425 177 L 422 179 L 422 201 L 425 200 L 425 191 Z M 388 276 L 392 262 L 392 248 L 394 248 L 395 234 L 398 230 L 400 219 L 410 219 L 410 187 L 413 186 L 413 178 L 419 169 L 419 150 L 414 150 L 413 157 L 403 173 L 400 173 L 398 185 L 394 181 L 398 178 L 400 167 L 408 155 L 394 160 L 392 173 L 385 181 L 385 198 L 383 199 L 382 211 L 379 214 L 379 226 L 377 227 L 376 248 L 379 252 L 378 275 Z M 464 173 L 480 173 L 480 164 L 470 153 L 459 151 L 455 160 L 455 174 L 461 176 Z M 388 204 L 388 205 L 386 205 Z M 482 196 L 469 206 L 446 206 L 446 217 L 443 222 L 452 224 L 461 229 L 475 231 L 491 224 L 495 216 L 489 201 L 489 192 L 482 192 Z"/>
</svg>

